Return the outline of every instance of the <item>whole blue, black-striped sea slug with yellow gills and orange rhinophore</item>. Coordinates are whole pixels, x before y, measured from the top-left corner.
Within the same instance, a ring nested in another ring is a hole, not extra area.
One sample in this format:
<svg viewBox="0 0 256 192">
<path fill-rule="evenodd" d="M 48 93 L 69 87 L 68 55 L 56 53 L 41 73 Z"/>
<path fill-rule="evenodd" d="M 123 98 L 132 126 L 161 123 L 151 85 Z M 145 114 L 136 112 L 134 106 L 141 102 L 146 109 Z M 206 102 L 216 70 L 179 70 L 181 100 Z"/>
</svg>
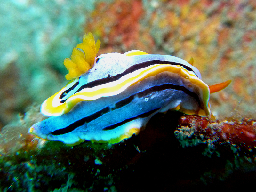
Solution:
<svg viewBox="0 0 256 192">
<path fill-rule="evenodd" d="M 118 143 L 138 134 L 158 112 L 210 115 L 210 92 L 230 83 L 209 87 L 197 68 L 178 57 L 139 50 L 96 57 L 99 47 L 89 33 L 64 60 L 71 81 L 43 102 L 41 113 L 51 117 L 29 133 L 67 145 Z"/>
</svg>

